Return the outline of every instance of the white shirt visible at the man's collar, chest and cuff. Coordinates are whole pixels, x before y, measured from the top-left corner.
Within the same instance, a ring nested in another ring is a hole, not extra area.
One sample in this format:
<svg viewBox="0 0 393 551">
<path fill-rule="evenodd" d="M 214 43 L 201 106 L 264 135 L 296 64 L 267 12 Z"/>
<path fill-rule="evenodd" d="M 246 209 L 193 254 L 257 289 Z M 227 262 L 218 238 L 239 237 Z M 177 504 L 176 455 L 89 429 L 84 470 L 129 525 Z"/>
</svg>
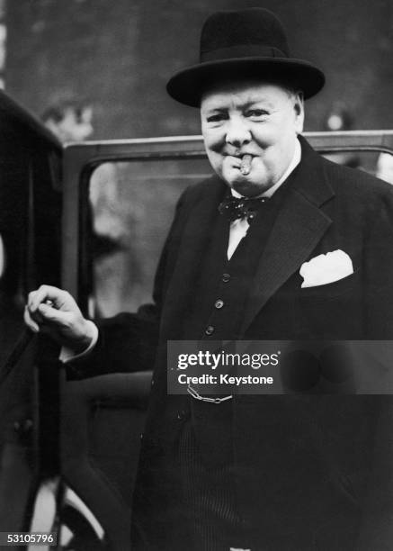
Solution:
<svg viewBox="0 0 393 551">
<path fill-rule="evenodd" d="M 278 182 L 272 185 L 272 187 L 269 187 L 269 189 L 263 192 L 263 194 L 257 195 L 257 197 L 272 197 L 272 194 L 274 194 L 278 190 L 281 184 L 283 184 L 285 180 L 288 178 L 288 176 L 290 176 L 291 172 L 293 172 L 293 170 L 299 165 L 300 160 L 301 160 L 301 147 L 300 147 L 299 140 L 296 140 L 295 151 L 293 153 L 292 160 L 290 161 L 290 164 L 288 165 L 287 169 L 285 170 L 281 178 L 278 180 Z M 234 189 L 231 189 L 230 191 L 232 195 L 234 195 L 234 197 L 242 196 L 241 194 L 238 194 Z M 227 249 L 228 260 L 230 260 L 233 253 L 236 251 L 237 245 L 240 243 L 240 241 L 244 237 L 246 237 L 246 233 L 249 227 L 250 227 L 250 224 L 246 221 L 246 218 L 231 222 L 230 230 L 229 230 L 228 249 Z M 88 321 L 88 323 L 90 324 L 92 336 L 93 336 L 90 346 L 80 354 L 75 354 L 72 350 L 66 347 L 61 348 L 60 360 L 62 362 L 67 363 L 71 359 L 83 357 L 85 356 L 85 354 L 88 354 L 90 350 L 92 350 L 95 347 L 98 340 L 98 329 L 93 321 Z"/>
</svg>

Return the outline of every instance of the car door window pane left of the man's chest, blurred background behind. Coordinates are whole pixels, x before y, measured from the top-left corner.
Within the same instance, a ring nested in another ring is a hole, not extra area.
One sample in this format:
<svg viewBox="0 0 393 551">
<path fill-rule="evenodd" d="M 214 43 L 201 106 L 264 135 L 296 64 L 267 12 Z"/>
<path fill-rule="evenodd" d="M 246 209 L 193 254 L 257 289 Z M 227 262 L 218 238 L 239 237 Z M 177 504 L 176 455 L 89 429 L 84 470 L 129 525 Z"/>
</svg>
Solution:
<svg viewBox="0 0 393 551">
<path fill-rule="evenodd" d="M 188 186 L 210 176 L 206 160 L 103 163 L 89 180 L 85 259 L 95 316 L 135 312 L 151 303 L 156 265 Z"/>
</svg>

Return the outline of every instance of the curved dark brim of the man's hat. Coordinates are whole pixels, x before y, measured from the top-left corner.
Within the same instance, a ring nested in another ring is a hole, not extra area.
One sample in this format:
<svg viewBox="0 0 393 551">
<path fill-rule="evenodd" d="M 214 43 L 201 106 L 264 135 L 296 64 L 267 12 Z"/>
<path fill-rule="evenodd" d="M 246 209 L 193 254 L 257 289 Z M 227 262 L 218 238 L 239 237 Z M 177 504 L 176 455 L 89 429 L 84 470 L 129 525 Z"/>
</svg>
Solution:
<svg viewBox="0 0 393 551">
<path fill-rule="evenodd" d="M 172 77 L 166 91 L 181 104 L 199 107 L 203 93 L 219 81 L 258 78 L 280 82 L 303 92 L 308 99 L 325 85 L 325 75 L 302 59 L 235 58 L 208 61 L 179 71 Z"/>
</svg>

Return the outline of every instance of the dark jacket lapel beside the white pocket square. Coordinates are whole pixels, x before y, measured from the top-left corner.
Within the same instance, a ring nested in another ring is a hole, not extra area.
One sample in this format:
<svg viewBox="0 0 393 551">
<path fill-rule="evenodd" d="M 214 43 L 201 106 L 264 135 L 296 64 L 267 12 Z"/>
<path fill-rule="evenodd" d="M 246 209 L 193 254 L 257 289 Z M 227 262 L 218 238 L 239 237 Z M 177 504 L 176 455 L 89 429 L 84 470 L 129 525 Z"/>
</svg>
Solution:
<svg viewBox="0 0 393 551">
<path fill-rule="evenodd" d="M 326 181 L 324 160 L 300 138 L 302 158 L 264 248 L 246 305 L 243 335 L 285 281 L 305 262 L 331 224 L 320 206 L 334 196 Z"/>
</svg>

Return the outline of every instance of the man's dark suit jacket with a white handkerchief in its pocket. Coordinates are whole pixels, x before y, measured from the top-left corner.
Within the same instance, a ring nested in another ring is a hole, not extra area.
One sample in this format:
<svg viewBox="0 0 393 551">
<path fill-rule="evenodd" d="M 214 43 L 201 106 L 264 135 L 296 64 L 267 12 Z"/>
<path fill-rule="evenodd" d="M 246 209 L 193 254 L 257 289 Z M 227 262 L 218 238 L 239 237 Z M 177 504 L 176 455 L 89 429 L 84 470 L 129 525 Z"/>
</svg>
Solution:
<svg viewBox="0 0 393 551">
<path fill-rule="evenodd" d="M 238 337 L 391 339 L 393 188 L 321 158 L 306 140 L 301 144 L 301 163 L 263 250 Z M 130 361 L 132 369 L 139 369 L 151 365 L 151 351 L 156 350 L 136 492 L 145 520 L 159 515 L 155 502 L 163 510 L 168 493 L 174 493 L 170 468 L 164 473 L 158 465 L 174 445 L 175 419 L 186 399 L 166 394 L 165 344 L 168 339 L 199 338 L 184 336 L 183 321 L 225 189 L 213 176 L 186 190 L 158 267 L 155 305 L 104 322 L 91 363 L 95 373 L 130 369 Z M 299 267 L 336 249 L 352 258 L 353 275 L 302 289 Z M 392 426 L 390 397 L 235 397 L 237 501 L 253 549 L 390 547 L 391 438 L 383 442 L 381 415 L 386 432 Z M 214 430 L 214 420 L 205 428 Z M 151 492 L 155 499 L 150 501 Z"/>
</svg>

